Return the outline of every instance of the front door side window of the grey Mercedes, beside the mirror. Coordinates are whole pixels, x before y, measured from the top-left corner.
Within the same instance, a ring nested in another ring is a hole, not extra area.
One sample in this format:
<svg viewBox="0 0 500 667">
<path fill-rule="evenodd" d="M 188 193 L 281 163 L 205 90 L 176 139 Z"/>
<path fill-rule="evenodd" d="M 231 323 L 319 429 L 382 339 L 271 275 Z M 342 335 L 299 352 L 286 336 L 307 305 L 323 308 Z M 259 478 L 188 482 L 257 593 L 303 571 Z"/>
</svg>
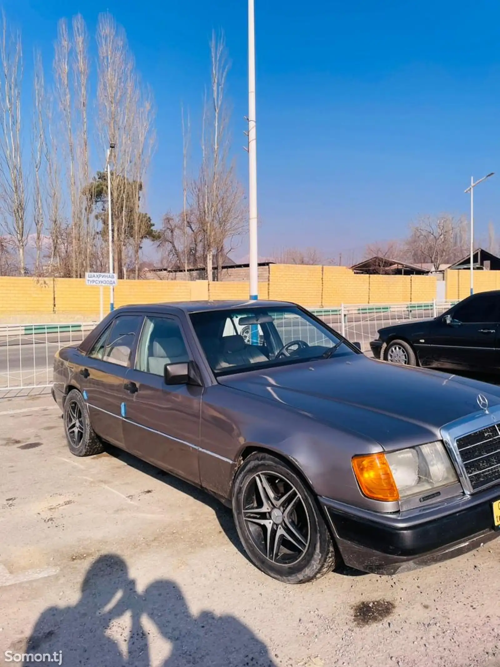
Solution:
<svg viewBox="0 0 500 667">
<path fill-rule="evenodd" d="M 146 317 L 135 356 L 135 368 L 163 376 L 165 364 L 189 362 L 181 327 L 167 317 Z"/>
</svg>

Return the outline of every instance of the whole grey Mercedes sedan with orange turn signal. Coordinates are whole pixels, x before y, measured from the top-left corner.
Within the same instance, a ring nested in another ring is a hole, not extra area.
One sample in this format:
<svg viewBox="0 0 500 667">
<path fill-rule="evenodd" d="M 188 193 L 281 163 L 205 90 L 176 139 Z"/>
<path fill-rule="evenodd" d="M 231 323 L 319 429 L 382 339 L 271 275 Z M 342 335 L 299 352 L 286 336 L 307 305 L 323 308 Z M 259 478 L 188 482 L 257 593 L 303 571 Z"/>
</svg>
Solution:
<svg viewBox="0 0 500 667">
<path fill-rule="evenodd" d="M 393 574 L 500 528 L 500 388 L 366 358 L 293 303 L 121 307 L 55 356 L 69 449 L 217 496 L 282 582 Z"/>
</svg>

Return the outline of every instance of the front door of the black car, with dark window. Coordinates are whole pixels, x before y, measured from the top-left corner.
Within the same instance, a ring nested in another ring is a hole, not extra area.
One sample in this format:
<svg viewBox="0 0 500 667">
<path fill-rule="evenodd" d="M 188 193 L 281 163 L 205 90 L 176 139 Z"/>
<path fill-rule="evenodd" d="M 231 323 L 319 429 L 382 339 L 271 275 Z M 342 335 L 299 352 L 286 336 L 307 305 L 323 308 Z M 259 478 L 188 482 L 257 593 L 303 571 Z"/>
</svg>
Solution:
<svg viewBox="0 0 500 667">
<path fill-rule="evenodd" d="M 499 370 L 495 349 L 499 299 L 493 293 L 475 294 L 435 320 L 427 342 L 436 366 L 471 371 Z"/>
</svg>

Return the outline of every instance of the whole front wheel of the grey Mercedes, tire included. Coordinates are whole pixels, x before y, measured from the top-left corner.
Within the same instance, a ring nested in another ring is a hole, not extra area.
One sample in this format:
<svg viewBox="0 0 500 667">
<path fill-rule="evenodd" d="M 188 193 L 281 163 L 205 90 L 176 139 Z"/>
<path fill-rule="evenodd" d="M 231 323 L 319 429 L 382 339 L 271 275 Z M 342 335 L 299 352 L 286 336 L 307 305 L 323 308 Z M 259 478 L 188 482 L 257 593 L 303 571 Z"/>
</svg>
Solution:
<svg viewBox="0 0 500 667">
<path fill-rule="evenodd" d="M 279 582 L 303 584 L 335 567 L 335 546 L 313 494 L 274 456 L 256 452 L 245 460 L 233 485 L 233 517 L 251 562 Z"/>
</svg>

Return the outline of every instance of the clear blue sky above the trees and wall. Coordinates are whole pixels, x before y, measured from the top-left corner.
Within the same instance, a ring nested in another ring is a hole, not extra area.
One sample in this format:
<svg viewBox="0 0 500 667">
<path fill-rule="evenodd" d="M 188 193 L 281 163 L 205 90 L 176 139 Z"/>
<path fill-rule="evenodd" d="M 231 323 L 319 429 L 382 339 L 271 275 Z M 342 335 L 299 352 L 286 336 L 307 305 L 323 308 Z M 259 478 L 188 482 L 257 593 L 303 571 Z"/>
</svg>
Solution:
<svg viewBox="0 0 500 667">
<path fill-rule="evenodd" d="M 316 246 L 331 257 L 403 237 L 419 214 L 468 213 L 471 175 L 499 173 L 475 197 L 478 237 L 500 237 L 500 5 L 497 0 L 255 0 L 259 254 Z M 378 5 L 378 6 L 377 6 Z M 4 0 L 52 57 L 57 20 L 108 10 L 129 38 L 157 105 L 147 207 L 181 207 L 181 101 L 193 141 L 212 29 L 225 31 L 239 173 L 247 185 L 245 0 Z M 27 62 L 27 83 L 30 65 Z M 29 77 L 29 79 L 28 79 Z M 246 243 L 236 253 L 245 255 Z"/>
</svg>

